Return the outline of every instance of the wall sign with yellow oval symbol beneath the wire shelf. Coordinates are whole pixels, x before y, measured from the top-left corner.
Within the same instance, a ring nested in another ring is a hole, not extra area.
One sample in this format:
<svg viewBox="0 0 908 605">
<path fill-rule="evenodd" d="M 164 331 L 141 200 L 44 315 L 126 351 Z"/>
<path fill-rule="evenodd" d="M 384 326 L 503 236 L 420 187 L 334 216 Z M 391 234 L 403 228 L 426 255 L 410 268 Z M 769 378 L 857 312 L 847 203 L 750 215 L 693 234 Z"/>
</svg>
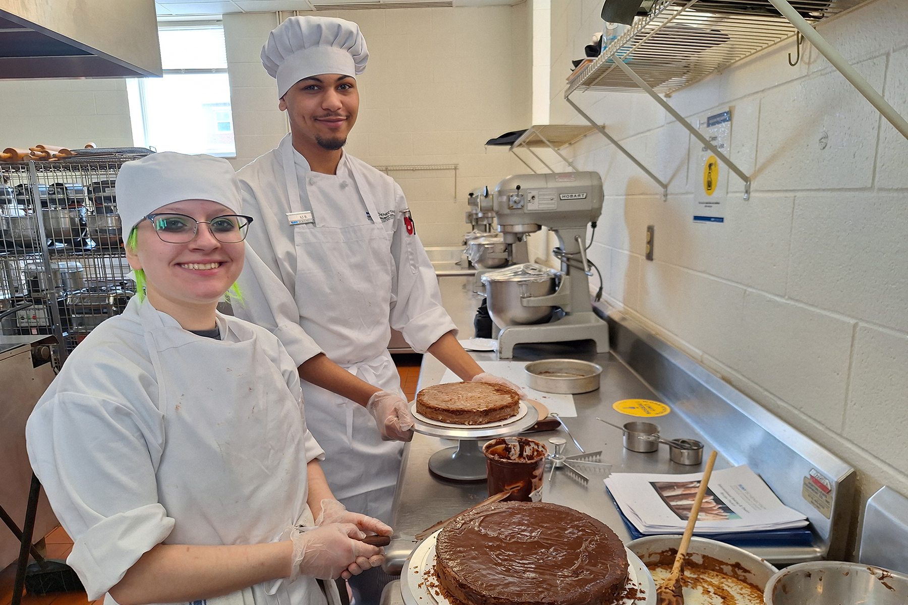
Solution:
<svg viewBox="0 0 908 605">
<path fill-rule="evenodd" d="M 732 133 L 732 112 L 706 116 L 700 120 L 700 130 L 716 149 L 728 154 Z M 695 140 L 695 144 L 699 145 Z M 694 222 L 725 222 L 723 204 L 728 195 L 728 170 L 716 155 L 700 145 L 700 182 L 694 187 Z"/>
</svg>

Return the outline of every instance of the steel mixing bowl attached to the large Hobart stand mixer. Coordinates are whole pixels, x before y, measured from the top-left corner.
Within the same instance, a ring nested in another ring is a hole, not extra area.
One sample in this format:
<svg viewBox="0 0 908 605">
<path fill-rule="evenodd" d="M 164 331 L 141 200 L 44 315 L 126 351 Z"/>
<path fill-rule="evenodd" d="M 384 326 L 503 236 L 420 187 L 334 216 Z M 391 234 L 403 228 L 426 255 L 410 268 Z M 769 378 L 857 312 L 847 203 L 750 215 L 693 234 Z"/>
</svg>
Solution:
<svg viewBox="0 0 908 605">
<path fill-rule="evenodd" d="M 548 321 L 555 307 L 524 307 L 520 300 L 554 294 L 559 275 L 555 269 L 535 263 L 499 268 L 483 275 L 492 321 L 498 327 Z"/>
</svg>

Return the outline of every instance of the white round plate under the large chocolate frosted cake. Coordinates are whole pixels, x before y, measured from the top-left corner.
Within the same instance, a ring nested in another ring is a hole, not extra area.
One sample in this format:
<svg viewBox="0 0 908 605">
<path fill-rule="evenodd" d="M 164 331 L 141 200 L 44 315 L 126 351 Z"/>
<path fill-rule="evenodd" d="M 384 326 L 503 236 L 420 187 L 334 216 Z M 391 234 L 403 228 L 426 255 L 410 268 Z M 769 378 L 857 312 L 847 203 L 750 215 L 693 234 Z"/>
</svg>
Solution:
<svg viewBox="0 0 908 605">
<path fill-rule="evenodd" d="M 433 533 L 416 547 L 400 572 L 400 592 L 406 605 L 454 605 L 445 599 L 441 590 L 433 586 L 438 583 L 435 573 L 435 541 L 439 532 Z M 636 554 L 627 548 L 625 551 L 627 584 L 629 588 L 637 589 L 637 598 L 617 600 L 615 605 L 656 605 L 658 601 L 653 576 Z"/>
</svg>

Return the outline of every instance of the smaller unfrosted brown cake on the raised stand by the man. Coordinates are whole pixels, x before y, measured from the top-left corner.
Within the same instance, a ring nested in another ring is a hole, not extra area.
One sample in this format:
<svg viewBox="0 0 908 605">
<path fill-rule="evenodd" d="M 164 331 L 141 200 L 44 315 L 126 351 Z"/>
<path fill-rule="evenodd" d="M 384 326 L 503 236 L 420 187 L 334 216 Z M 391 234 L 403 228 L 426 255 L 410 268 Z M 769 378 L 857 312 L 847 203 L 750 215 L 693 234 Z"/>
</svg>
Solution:
<svg viewBox="0 0 908 605">
<path fill-rule="evenodd" d="M 449 424 L 486 424 L 516 415 L 520 395 L 491 383 L 463 382 L 427 386 L 416 395 L 416 411 Z"/>
</svg>

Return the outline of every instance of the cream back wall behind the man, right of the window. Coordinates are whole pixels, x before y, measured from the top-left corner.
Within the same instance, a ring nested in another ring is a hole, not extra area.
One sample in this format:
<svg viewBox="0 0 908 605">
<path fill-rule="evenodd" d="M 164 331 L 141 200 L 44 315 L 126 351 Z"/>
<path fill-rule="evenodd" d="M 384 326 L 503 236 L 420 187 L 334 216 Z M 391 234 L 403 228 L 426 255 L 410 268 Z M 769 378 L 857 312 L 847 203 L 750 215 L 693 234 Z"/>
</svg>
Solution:
<svg viewBox="0 0 908 605">
<path fill-rule="evenodd" d="M 370 60 L 357 79 L 360 115 L 346 150 L 373 166 L 458 164 L 391 171 L 426 245 L 459 244 L 467 191 L 519 171 L 485 141 L 526 128 L 531 108 L 531 19 L 515 6 L 319 12 L 360 24 Z M 287 132 L 274 81 L 259 59 L 274 13 L 224 15 L 236 168 Z"/>
</svg>

